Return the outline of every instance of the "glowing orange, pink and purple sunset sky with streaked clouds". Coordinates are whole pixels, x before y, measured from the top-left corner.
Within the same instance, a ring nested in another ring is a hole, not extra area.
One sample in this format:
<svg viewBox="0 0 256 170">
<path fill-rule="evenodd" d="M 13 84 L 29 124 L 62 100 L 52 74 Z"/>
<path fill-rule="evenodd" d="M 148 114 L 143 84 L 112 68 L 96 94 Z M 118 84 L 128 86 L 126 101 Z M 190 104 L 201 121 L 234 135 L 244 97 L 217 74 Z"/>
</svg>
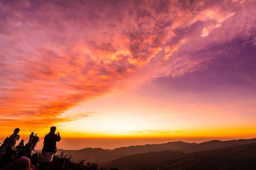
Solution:
<svg viewBox="0 0 256 170">
<path fill-rule="evenodd" d="M 255 6 L 1 0 L 0 137 L 20 128 L 41 147 L 56 126 L 64 149 L 255 138 Z"/>
</svg>

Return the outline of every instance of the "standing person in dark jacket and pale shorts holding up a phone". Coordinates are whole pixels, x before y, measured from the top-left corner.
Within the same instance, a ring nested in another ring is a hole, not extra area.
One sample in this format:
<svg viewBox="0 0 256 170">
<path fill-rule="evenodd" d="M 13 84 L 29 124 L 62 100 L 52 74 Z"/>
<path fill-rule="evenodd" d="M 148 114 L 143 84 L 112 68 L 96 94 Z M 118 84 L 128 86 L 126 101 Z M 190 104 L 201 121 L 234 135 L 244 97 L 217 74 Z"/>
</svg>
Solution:
<svg viewBox="0 0 256 170">
<path fill-rule="evenodd" d="M 49 170 L 54 153 L 56 152 L 56 142 L 61 140 L 59 132 L 55 134 L 56 127 L 52 126 L 50 132 L 45 135 L 44 145 L 42 149 L 42 164 L 40 170 Z"/>
</svg>

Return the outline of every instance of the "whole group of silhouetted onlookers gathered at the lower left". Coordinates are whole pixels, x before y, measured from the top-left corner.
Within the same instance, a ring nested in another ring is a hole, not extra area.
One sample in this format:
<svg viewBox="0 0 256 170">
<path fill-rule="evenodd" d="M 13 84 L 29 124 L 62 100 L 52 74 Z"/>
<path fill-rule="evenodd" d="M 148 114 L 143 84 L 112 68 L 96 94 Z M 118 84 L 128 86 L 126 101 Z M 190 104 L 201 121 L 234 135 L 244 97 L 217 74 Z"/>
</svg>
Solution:
<svg viewBox="0 0 256 170">
<path fill-rule="evenodd" d="M 42 162 L 38 164 L 38 153 L 36 152 L 36 144 L 39 137 L 34 132 L 29 135 L 29 141 L 24 146 L 24 140 L 21 139 L 20 144 L 15 147 L 16 141 L 20 139 L 19 128 L 14 129 L 10 137 L 4 139 L 0 147 L 0 151 L 4 153 L 0 159 L 0 170 L 49 170 L 53 155 L 57 152 L 56 142 L 61 140 L 59 132 L 55 134 L 56 127 L 52 126 L 50 132 L 45 135 Z"/>
</svg>

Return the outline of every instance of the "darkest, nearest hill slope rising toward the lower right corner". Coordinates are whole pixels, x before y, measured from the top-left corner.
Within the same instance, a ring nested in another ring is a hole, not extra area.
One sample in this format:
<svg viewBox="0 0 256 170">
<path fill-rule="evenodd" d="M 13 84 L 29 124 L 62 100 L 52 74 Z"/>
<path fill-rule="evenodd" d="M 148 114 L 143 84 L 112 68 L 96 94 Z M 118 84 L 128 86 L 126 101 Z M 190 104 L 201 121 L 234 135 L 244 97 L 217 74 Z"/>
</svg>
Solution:
<svg viewBox="0 0 256 170">
<path fill-rule="evenodd" d="M 100 163 L 101 167 L 120 170 L 256 170 L 256 143 L 187 154 L 171 150 L 149 152 Z"/>
</svg>

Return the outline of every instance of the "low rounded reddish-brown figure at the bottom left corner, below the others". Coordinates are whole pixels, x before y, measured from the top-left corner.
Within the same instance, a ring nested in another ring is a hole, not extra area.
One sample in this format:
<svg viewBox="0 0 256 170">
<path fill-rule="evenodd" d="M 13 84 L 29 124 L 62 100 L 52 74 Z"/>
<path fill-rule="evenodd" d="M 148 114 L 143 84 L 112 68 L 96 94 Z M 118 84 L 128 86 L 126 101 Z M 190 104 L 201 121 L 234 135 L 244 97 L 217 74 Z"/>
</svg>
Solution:
<svg viewBox="0 0 256 170">
<path fill-rule="evenodd" d="M 36 166 L 30 165 L 30 159 L 19 157 L 12 163 L 7 164 L 1 170 L 36 170 Z"/>
</svg>

